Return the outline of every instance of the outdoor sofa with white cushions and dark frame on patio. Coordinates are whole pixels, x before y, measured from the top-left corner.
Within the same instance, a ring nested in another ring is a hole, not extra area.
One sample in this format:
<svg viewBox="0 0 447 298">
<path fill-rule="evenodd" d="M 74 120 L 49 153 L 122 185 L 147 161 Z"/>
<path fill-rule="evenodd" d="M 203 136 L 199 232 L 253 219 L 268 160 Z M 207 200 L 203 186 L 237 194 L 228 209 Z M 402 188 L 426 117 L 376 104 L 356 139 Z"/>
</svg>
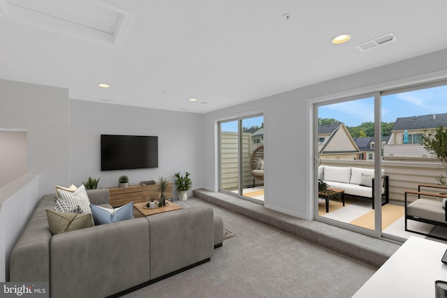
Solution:
<svg viewBox="0 0 447 298">
<path fill-rule="evenodd" d="M 374 198 L 374 169 L 319 165 L 318 179 L 332 188 L 343 189 L 345 195 L 367 200 Z M 381 193 L 382 204 L 387 204 L 389 202 L 388 176 L 384 170 L 381 170 Z M 372 200 L 372 209 L 374 209 L 374 200 Z"/>
</svg>

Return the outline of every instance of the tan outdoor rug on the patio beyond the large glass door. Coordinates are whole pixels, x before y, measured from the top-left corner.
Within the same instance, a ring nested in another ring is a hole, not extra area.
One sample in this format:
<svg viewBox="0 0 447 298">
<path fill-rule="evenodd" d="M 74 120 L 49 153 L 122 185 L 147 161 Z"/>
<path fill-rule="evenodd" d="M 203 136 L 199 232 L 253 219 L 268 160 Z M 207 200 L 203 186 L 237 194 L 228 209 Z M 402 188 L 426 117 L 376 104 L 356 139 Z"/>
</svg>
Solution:
<svg viewBox="0 0 447 298">
<path fill-rule="evenodd" d="M 382 206 L 382 230 L 388 228 L 389 225 L 397 221 L 405 214 L 403 206 L 397 206 L 392 204 L 385 204 Z M 351 225 L 357 225 L 358 227 L 374 230 L 374 210 L 369 211 L 367 214 L 356 218 L 350 222 Z"/>
</svg>

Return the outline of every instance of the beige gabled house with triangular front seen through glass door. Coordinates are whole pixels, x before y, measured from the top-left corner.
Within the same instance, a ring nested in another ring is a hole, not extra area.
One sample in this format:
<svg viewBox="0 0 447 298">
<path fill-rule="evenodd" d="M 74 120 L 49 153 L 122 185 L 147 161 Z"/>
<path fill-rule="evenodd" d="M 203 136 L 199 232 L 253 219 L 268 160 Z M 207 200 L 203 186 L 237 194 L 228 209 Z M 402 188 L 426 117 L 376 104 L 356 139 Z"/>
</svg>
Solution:
<svg viewBox="0 0 447 298">
<path fill-rule="evenodd" d="M 318 126 L 318 156 L 322 159 L 355 160 L 360 154 L 343 123 Z"/>
</svg>

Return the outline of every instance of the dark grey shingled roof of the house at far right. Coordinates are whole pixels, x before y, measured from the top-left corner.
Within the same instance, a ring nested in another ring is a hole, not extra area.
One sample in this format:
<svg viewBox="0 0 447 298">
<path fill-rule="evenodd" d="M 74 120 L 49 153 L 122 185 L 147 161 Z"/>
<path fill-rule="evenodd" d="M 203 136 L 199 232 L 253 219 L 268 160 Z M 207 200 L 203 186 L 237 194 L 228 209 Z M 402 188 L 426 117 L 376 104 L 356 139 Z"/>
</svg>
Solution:
<svg viewBox="0 0 447 298">
<path fill-rule="evenodd" d="M 437 128 L 439 126 L 447 126 L 447 113 L 400 117 L 396 119 L 392 131 Z"/>
</svg>

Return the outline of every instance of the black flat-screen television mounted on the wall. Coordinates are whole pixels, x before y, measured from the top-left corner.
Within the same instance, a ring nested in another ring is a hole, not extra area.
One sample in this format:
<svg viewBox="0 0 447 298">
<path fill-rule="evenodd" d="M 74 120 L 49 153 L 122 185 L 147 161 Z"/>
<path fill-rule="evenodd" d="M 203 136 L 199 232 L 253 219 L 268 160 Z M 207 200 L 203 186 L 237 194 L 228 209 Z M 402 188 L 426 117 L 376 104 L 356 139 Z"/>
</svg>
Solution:
<svg viewBox="0 0 447 298">
<path fill-rule="evenodd" d="M 159 167 L 159 137 L 101 135 L 101 171 Z"/>
</svg>

